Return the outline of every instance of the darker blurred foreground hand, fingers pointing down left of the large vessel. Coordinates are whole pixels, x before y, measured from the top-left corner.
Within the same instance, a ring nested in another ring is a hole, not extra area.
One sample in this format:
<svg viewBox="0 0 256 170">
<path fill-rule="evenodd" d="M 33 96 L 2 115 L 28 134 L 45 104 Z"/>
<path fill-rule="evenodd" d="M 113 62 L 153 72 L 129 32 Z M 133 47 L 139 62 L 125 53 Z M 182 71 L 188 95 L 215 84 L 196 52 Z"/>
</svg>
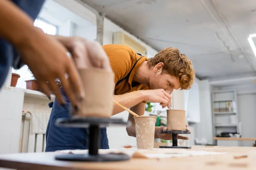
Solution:
<svg viewBox="0 0 256 170">
<path fill-rule="evenodd" d="M 58 102 L 64 105 L 55 82 L 55 79 L 60 79 L 70 102 L 76 106 L 84 98 L 84 90 L 73 59 L 67 56 L 67 49 L 54 37 L 44 34 L 41 29 L 35 28 L 34 31 L 34 36 L 17 46 L 21 59 L 28 65 L 39 87 L 48 97 L 50 91 L 47 82 Z M 69 79 L 66 79 L 66 74 Z"/>
</svg>

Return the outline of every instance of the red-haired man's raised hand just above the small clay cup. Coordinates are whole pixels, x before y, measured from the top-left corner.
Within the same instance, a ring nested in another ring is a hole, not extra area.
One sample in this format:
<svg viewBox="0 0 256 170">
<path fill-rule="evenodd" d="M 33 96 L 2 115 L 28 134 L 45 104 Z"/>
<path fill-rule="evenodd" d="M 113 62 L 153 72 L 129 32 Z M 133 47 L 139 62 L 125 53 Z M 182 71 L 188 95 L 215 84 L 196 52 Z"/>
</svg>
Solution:
<svg viewBox="0 0 256 170">
<path fill-rule="evenodd" d="M 163 89 L 142 90 L 141 93 L 147 102 L 160 103 L 162 108 L 172 107 L 172 96 Z"/>
</svg>

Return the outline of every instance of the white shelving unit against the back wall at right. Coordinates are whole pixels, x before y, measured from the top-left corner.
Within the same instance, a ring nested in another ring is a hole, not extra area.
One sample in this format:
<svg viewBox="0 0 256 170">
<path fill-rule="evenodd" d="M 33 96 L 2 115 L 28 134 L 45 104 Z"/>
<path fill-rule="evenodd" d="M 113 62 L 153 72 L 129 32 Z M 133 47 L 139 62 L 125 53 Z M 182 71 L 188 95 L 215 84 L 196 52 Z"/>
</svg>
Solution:
<svg viewBox="0 0 256 170">
<path fill-rule="evenodd" d="M 241 135 L 236 96 L 236 90 L 212 91 L 213 137 L 222 132 L 240 133 Z"/>
</svg>

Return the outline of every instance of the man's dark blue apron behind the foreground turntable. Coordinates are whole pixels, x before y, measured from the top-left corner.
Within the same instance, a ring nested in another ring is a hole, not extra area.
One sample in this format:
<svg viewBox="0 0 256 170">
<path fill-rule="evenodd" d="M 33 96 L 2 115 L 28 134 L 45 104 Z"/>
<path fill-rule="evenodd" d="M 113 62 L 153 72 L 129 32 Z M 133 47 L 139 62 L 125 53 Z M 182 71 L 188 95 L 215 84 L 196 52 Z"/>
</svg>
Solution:
<svg viewBox="0 0 256 170">
<path fill-rule="evenodd" d="M 62 107 L 58 104 L 57 100 L 49 103 L 52 107 L 52 112 L 49 117 L 49 122 L 46 130 L 46 152 L 55 150 L 73 150 L 73 149 L 87 149 L 87 128 L 71 128 L 71 127 L 58 127 L 55 121 L 58 118 L 69 117 L 70 101 L 64 93 L 63 88 L 60 88 L 61 94 L 65 100 L 65 106 Z M 109 149 L 107 129 L 100 130 L 100 149 Z"/>
</svg>

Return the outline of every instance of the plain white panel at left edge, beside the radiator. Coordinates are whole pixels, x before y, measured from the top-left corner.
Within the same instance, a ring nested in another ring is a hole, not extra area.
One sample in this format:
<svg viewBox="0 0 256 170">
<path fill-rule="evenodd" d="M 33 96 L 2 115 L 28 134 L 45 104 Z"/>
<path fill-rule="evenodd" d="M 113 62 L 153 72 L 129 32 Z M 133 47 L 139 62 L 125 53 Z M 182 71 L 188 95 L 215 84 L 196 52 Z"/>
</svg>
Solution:
<svg viewBox="0 0 256 170">
<path fill-rule="evenodd" d="M 20 89 L 0 91 L 0 154 L 19 151 L 23 99 L 24 92 Z"/>
</svg>

